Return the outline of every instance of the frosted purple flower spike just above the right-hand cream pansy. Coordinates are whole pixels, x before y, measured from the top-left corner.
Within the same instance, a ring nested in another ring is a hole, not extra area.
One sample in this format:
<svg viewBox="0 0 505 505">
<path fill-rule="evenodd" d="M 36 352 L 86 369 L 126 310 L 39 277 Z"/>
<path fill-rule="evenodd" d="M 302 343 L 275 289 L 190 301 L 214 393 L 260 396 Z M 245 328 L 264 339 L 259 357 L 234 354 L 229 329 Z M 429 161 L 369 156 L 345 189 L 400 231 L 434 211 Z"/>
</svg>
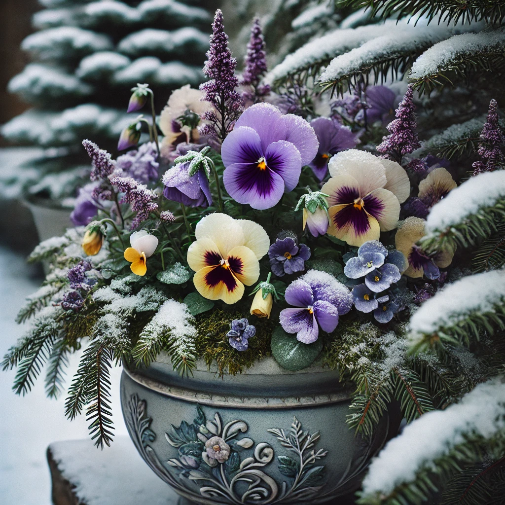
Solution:
<svg viewBox="0 0 505 505">
<path fill-rule="evenodd" d="M 387 126 L 389 135 L 382 138 L 377 151 L 387 155 L 393 161 L 401 161 L 405 155 L 421 147 L 417 136 L 417 123 L 414 111 L 416 106 L 412 100 L 413 89 L 409 85 L 407 93 L 396 109 L 396 119 Z"/>
</svg>

